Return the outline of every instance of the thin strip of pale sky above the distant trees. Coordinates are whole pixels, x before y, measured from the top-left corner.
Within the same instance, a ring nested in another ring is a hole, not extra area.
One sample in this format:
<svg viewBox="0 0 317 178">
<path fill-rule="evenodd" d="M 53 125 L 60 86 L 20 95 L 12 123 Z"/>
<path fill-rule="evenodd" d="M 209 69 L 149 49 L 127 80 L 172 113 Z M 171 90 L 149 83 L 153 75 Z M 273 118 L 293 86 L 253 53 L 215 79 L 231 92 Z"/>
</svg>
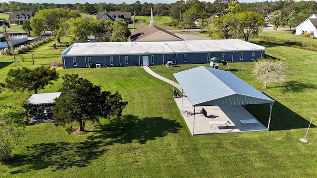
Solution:
<svg viewBox="0 0 317 178">
<path fill-rule="evenodd" d="M 66 4 L 66 3 L 81 3 L 84 4 L 86 2 L 88 3 L 99 3 L 99 2 L 106 2 L 106 3 L 114 3 L 114 4 L 120 4 L 122 2 L 125 2 L 126 4 L 132 4 L 136 2 L 137 0 L 0 0 L 0 2 L 9 2 L 9 1 L 17 1 L 17 2 L 23 2 L 23 3 L 55 3 L 55 4 Z M 167 3 L 171 4 L 176 2 L 177 0 L 139 0 L 142 3 L 144 2 L 152 2 L 152 3 Z M 186 1 L 186 0 L 185 0 Z M 214 0 L 200 0 L 200 1 L 206 1 L 206 2 L 213 2 Z M 238 0 L 239 2 L 262 2 L 265 0 Z M 275 0 L 272 0 L 275 1 Z"/>
</svg>

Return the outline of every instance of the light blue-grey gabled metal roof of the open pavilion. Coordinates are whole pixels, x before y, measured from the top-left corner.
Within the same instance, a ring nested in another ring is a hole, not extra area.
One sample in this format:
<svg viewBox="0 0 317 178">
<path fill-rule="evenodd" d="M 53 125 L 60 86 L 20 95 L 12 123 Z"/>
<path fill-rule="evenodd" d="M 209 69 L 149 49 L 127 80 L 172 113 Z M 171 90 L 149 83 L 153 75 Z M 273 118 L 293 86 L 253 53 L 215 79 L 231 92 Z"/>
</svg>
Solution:
<svg viewBox="0 0 317 178">
<path fill-rule="evenodd" d="M 194 106 L 274 102 L 228 71 L 200 66 L 173 75 Z"/>
</svg>

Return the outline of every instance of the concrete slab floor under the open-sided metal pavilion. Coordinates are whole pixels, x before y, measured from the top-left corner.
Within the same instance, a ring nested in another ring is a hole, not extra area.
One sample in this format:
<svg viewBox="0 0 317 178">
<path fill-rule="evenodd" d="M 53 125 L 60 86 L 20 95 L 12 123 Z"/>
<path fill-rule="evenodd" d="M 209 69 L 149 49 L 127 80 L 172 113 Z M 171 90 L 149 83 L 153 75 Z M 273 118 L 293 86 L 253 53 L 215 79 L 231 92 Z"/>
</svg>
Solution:
<svg viewBox="0 0 317 178">
<path fill-rule="evenodd" d="M 182 108 L 188 108 L 188 114 L 183 118 L 193 135 L 267 131 L 267 128 L 241 105 L 196 107 L 195 113 L 199 113 L 204 108 L 207 111 L 207 117 L 203 114 L 195 114 L 194 124 L 194 107 L 190 100 L 184 96 L 175 98 L 175 102 L 181 112 Z M 255 119 L 258 123 L 242 125 L 240 120 L 245 119 Z M 218 123 L 214 121 L 228 121 L 229 124 L 212 125 L 211 127 L 209 122 Z"/>
</svg>

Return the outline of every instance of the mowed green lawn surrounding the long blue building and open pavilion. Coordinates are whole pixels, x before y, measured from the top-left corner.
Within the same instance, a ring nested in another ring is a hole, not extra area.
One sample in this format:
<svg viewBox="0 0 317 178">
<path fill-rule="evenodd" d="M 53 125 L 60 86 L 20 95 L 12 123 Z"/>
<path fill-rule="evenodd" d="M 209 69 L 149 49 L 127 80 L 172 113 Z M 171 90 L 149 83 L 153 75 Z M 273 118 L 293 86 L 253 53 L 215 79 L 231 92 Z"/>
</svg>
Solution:
<svg viewBox="0 0 317 178">
<path fill-rule="evenodd" d="M 34 68 L 61 61 L 60 49 L 53 43 L 40 46 L 25 55 L 21 66 Z M 73 177 L 316 177 L 317 52 L 285 46 L 264 45 L 265 54 L 284 60 L 287 83 L 262 84 L 252 75 L 253 63 L 230 63 L 230 71 L 272 97 L 272 120 L 269 132 L 212 134 L 192 136 L 172 98 L 173 87 L 149 74 L 142 67 L 102 69 L 57 69 L 60 77 L 78 73 L 102 89 L 118 90 L 129 103 L 122 118 L 102 119 L 100 124 L 88 123 L 88 134 L 67 134 L 65 128 L 52 123 L 26 126 L 25 135 L 12 151 L 12 159 L 0 164 L 0 177 L 12 178 L 73 178 Z M 17 58 L 19 58 L 17 56 Z M 0 82 L 9 69 L 15 69 L 12 56 L 0 56 Z M 207 64 L 206 64 L 207 65 Z M 200 65 L 166 68 L 151 66 L 160 75 L 173 79 L 172 74 Z M 224 69 L 220 64 L 219 69 Z M 227 69 L 227 68 L 226 68 Z M 61 87 L 59 79 L 44 92 Z M 27 92 L 0 93 L 0 101 L 19 107 Z M 246 107 L 264 125 L 269 107 Z M 74 125 L 76 126 L 76 125 Z"/>
</svg>

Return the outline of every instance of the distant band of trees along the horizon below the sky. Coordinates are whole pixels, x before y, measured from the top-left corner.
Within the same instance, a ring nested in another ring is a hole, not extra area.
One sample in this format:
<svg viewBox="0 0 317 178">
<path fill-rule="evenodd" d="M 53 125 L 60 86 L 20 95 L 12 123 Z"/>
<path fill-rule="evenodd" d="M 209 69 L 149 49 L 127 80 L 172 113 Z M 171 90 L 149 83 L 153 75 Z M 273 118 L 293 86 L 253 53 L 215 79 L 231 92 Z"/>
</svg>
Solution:
<svg viewBox="0 0 317 178">
<path fill-rule="evenodd" d="M 135 12 L 139 16 L 150 16 L 151 8 L 153 8 L 154 15 L 156 16 L 171 16 L 174 20 L 180 20 L 182 15 L 188 10 L 194 10 L 195 18 L 205 18 L 210 14 L 226 14 L 225 9 L 228 8 L 230 2 L 238 0 L 215 0 L 213 3 L 199 0 L 178 0 L 175 3 L 147 3 L 141 4 L 140 1 L 136 1 L 132 4 L 120 3 L 94 3 L 88 2 L 81 4 L 54 4 L 54 3 L 23 3 L 16 1 L 9 1 L 9 3 L 0 3 L 1 12 L 13 12 L 13 11 L 39 11 L 43 9 L 53 8 L 68 8 L 72 10 L 79 10 L 84 13 L 92 13 L 96 11 L 114 11 L 120 10 L 122 12 Z M 263 14 L 264 16 L 270 12 L 281 10 L 285 4 L 291 6 L 295 13 L 301 12 L 302 14 L 313 14 L 317 13 L 317 2 L 311 1 L 299 1 L 295 0 L 278 0 L 278 1 L 264 1 L 264 2 L 251 2 L 241 3 L 247 11 L 253 11 L 256 13 Z M 289 5 L 290 4 L 290 5 Z M 306 15 L 307 16 L 307 15 Z"/>
</svg>

